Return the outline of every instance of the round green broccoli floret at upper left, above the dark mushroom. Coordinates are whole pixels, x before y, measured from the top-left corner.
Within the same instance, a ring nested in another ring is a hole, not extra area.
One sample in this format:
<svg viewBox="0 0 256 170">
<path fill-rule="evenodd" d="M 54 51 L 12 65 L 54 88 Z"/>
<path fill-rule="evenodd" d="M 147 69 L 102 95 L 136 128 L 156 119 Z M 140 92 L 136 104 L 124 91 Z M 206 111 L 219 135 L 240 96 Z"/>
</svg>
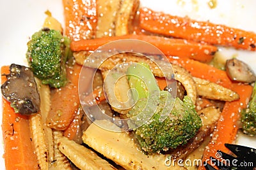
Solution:
<svg viewBox="0 0 256 170">
<path fill-rule="evenodd" d="M 28 42 L 26 57 L 33 73 L 42 83 L 59 88 L 67 83 L 65 38 L 60 31 L 42 29 Z"/>
</svg>

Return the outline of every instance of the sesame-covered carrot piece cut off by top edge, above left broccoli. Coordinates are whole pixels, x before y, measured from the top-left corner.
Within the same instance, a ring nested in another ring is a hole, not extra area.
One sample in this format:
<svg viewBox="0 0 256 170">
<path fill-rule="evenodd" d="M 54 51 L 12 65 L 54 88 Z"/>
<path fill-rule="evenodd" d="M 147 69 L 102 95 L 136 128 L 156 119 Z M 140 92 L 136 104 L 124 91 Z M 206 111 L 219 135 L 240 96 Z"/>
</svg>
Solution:
<svg viewBox="0 0 256 170">
<path fill-rule="evenodd" d="M 63 0 L 65 18 L 64 34 L 74 40 L 95 36 L 97 13 L 95 0 Z"/>
</svg>

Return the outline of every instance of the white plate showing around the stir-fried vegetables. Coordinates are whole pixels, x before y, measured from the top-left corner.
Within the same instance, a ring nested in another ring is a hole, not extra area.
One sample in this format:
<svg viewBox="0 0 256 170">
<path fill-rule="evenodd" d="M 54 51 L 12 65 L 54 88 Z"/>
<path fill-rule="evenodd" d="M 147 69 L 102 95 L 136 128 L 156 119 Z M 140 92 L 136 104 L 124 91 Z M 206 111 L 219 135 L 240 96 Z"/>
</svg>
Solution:
<svg viewBox="0 0 256 170">
<path fill-rule="evenodd" d="M 197 20 L 210 20 L 216 24 L 225 24 L 246 31 L 256 32 L 256 13 L 254 0 L 226 0 L 217 1 L 217 7 L 210 9 L 210 0 L 141 0 L 142 6 L 152 10 L 164 11 L 173 15 L 185 16 Z M 38 31 L 44 22 L 46 10 L 63 23 L 63 7 L 61 0 L 23 0 L 1 1 L 1 41 L 0 41 L 0 66 L 26 64 L 26 43 L 34 32 Z M 256 52 L 244 52 L 221 48 L 221 53 L 230 58 L 233 55 L 247 62 L 256 72 Z M 0 97 L 1 98 L 1 97 Z M 0 113 L 2 113 L 0 107 Z M 0 119 L 2 115 L 0 114 Z M 1 133 L 1 131 L 0 131 Z M 1 136 L 1 135 L 0 135 Z M 0 155 L 3 155 L 3 138 L 0 137 Z M 256 148 L 256 139 L 239 136 L 237 143 Z M 4 160 L 1 157 L 0 167 L 4 169 Z"/>
</svg>

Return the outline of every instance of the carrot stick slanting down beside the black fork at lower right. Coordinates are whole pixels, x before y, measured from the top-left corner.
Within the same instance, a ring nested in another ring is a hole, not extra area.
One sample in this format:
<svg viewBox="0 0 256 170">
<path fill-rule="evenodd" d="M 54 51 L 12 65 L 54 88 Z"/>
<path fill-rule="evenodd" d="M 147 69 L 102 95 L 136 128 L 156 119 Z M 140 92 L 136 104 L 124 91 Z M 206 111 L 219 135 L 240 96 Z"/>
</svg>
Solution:
<svg viewBox="0 0 256 170">
<path fill-rule="evenodd" d="M 237 122 L 239 120 L 239 111 L 242 108 L 246 108 L 250 96 L 252 95 L 252 86 L 250 85 L 239 85 L 238 83 L 233 83 L 232 90 L 237 92 L 240 99 L 237 101 L 226 102 L 221 117 L 218 120 L 216 131 L 212 134 L 212 139 L 207 149 L 204 151 L 203 162 L 211 164 L 210 157 L 216 158 L 216 152 L 221 150 L 223 152 L 229 153 L 230 151 L 225 147 L 225 143 L 233 143 L 236 139 L 236 134 L 238 130 Z M 204 167 L 199 167 L 203 170 Z"/>
</svg>

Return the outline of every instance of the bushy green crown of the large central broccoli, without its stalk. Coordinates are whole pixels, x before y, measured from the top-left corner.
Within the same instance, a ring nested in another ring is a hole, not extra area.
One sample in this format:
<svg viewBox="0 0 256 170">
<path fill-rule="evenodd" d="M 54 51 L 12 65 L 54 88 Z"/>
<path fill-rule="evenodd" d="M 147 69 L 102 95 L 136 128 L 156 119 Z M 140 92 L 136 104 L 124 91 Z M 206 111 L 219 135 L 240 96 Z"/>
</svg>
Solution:
<svg viewBox="0 0 256 170">
<path fill-rule="evenodd" d="M 138 115 L 146 103 L 151 105 L 150 102 L 153 101 L 155 101 L 154 97 L 148 97 L 148 101 L 140 99 L 129 114 L 131 117 Z M 173 108 L 168 108 L 172 106 Z M 163 121 L 160 121 L 164 109 L 172 111 Z M 143 115 L 141 114 L 142 117 Z M 136 120 L 140 121 L 141 118 L 139 116 Z M 136 121 L 132 123 L 136 124 Z M 190 97 L 185 96 L 181 101 L 179 98 L 173 99 L 171 95 L 160 92 L 156 111 L 146 124 L 134 129 L 134 135 L 145 153 L 159 153 L 170 148 L 177 148 L 179 145 L 185 145 L 189 139 L 195 136 L 201 126 L 201 118 L 197 115 L 195 105 Z"/>
</svg>

